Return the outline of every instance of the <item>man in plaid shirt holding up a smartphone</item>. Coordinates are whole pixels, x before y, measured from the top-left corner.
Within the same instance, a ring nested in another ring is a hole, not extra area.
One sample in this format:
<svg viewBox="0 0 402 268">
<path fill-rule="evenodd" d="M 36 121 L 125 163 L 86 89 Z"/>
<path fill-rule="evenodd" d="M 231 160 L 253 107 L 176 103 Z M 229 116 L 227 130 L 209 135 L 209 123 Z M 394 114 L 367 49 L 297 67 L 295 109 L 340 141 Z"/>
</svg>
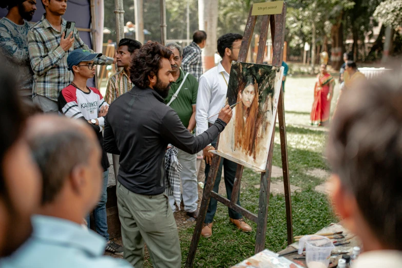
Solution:
<svg viewBox="0 0 402 268">
<path fill-rule="evenodd" d="M 58 112 L 60 91 L 68 86 L 73 74 L 68 70 L 67 57 L 74 49 L 89 50 L 80 39 L 75 28 L 64 38 L 67 1 L 43 0 L 46 10 L 42 20 L 37 22 L 28 33 L 28 50 L 33 70 L 33 102 L 40 105 L 44 112 Z M 93 53 L 92 50 L 91 53 Z M 109 65 L 113 58 L 102 56 L 95 64 Z"/>
</svg>

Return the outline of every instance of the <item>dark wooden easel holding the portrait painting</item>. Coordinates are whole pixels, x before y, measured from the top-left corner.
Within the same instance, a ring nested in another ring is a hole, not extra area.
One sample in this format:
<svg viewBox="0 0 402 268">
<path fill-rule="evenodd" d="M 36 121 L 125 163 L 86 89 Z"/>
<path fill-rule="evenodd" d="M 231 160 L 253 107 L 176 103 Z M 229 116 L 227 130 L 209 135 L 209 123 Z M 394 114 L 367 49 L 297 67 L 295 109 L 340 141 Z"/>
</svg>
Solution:
<svg viewBox="0 0 402 268">
<path fill-rule="evenodd" d="M 245 62 L 247 59 L 248 48 L 250 47 L 250 42 L 252 39 L 252 34 L 254 32 L 254 27 L 256 25 L 257 16 L 252 15 L 252 10 L 248 15 L 247 24 L 244 30 L 243 40 L 241 42 L 238 62 Z M 271 35 L 273 44 L 273 61 L 272 65 L 281 66 L 282 56 L 283 56 L 283 44 L 284 44 L 284 30 L 285 30 L 285 18 L 286 18 L 286 3 L 283 4 L 282 13 L 278 15 L 262 15 L 262 27 L 260 33 L 260 40 L 258 46 L 257 60 L 256 64 L 262 64 L 264 58 L 265 44 L 268 35 L 268 27 L 271 25 Z M 288 245 L 293 242 L 293 226 L 292 226 L 292 204 L 291 204 L 291 191 L 290 191 L 290 181 L 289 181 L 289 166 L 288 166 L 288 144 L 286 141 L 286 129 L 285 129 L 285 113 L 283 107 L 283 91 L 281 90 L 279 95 L 278 104 L 278 119 L 279 119 L 279 132 L 280 132 L 280 142 L 281 142 L 281 155 L 282 155 L 282 169 L 283 169 L 283 184 L 285 188 L 285 203 L 286 203 L 286 225 L 288 228 Z M 275 115 L 276 123 L 276 115 Z M 275 125 L 275 124 L 274 124 Z M 219 168 L 219 163 L 221 157 L 214 155 L 212 160 L 212 165 L 209 170 L 208 179 L 204 186 L 204 193 L 201 201 L 200 213 L 197 219 L 197 224 L 194 229 L 193 239 L 190 245 L 190 250 L 188 252 L 186 267 L 192 267 L 194 263 L 195 254 L 197 252 L 197 246 L 200 241 L 202 225 L 204 223 L 205 215 L 207 212 L 208 204 L 210 198 L 215 198 L 217 201 L 223 203 L 229 208 L 232 208 L 236 212 L 242 214 L 247 219 L 254 221 L 257 224 L 257 235 L 256 235 L 256 245 L 255 253 L 264 250 L 265 245 L 265 233 L 266 233 L 266 222 L 267 222 L 267 211 L 270 199 L 270 185 L 271 185 L 271 169 L 272 169 L 272 157 L 274 151 L 274 138 L 275 138 L 275 127 L 272 133 L 271 146 L 268 155 L 268 160 L 266 163 L 266 171 L 261 174 L 261 184 L 260 184 L 260 195 L 259 195 L 259 207 L 258 215 L 255 215 L 244 209 L 243 207 L 236 204 L 237 198 L 240 191 L 240 182 L 243 175 L 244 167 L 242 165 L 237 165 L 235 182 L 233 185 L 233 193 L 231 200 L 224 198 L 223 196 L 215 193 L 212 189 L 214 188 L 216 175 Z M 219 137 L 217 141 L 217 147 L 219 143 Z"/>
</svg>

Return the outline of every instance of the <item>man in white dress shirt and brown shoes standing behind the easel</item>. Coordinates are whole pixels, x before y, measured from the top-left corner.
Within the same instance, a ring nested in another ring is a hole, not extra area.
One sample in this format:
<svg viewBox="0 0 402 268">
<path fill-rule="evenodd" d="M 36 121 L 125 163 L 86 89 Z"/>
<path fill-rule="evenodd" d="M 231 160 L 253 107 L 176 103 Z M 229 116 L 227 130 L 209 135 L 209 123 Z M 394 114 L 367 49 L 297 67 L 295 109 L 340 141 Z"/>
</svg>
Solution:
<svg viewBox="0 0 402 268">
<path fill-rule="evenodd" d="M 229 73 L 231 72 L 232 61 L 237 61 L 242 38 L 243 36 L 238 33 L 226 33 L 219 37 L 218 53 L 222 57 L 222 61 L 218 64 L 218 66 L 208 70 L 200 77 L 196 107 L 197 135 L 208 129 L 208 125 L 213 124 L 218 116 L 214 116 L 210 119 L 207 118 L 219 112 L 222 107 L 225 106 Z M 213 157 L 213 154 L 209 152 L 209 150 L 214 150 L 215 147 L 216 140 L 213 141 L 212 144 L 206 146 L 203 150 L 206 163 L 205 183 Z M 214 192 L 216 193 L 218 193 L 219 190 L 222 166 L 224 167 L 226 194 L 230 199 L 232 196 L 237 164 L 222 158 L 214 185 Z M 239 200 L 240 198 L 238 198 L 237 201 L 238 205 L 240 205 Z M 212 236 L 212 222 L 216 213 L 216 207 L 217 201 L 215 199 L 211 199 L 201 232 L 201 235 L 205 238 Z M 229 208 L 229 219 L 243 232 L 252 231 L 250 225 L 244 222 L 242 215 L 235 212 L 235 210 L 231 208 Z"/>
</svg>

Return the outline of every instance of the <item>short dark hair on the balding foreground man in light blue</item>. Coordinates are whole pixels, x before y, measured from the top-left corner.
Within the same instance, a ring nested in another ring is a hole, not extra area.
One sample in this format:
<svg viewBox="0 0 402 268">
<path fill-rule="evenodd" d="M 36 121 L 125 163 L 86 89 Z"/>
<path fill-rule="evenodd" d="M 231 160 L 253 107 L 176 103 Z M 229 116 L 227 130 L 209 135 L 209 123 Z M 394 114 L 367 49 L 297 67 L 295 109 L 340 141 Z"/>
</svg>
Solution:
<svg viewBox="0 0 402 268">
<path fill-rule="evenodd" d="M 42 205 L 51 203 L 60 194 L 72 169 L 88 163 L 93 149 L 85 133 L 76 129 L 41 133 L 30 137 L 29 145 L 42 173 Z"/>
</svg>

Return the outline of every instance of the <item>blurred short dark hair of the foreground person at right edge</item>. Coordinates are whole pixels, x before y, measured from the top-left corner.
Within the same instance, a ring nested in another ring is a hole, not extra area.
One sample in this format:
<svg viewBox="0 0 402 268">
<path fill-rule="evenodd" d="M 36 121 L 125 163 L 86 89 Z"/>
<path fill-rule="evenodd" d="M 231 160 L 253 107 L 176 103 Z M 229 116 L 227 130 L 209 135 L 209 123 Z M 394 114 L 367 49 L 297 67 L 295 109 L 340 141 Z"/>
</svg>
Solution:
<svg viewBox="0 0 402 268">
<path fill-rule="evenodd" d="M 400 65 L 399 65 L 400 66 Z M 402 71 L 342 93 L 327 147 L 333 173 L 382 245 L 402 250 Z"/>
</svg>

